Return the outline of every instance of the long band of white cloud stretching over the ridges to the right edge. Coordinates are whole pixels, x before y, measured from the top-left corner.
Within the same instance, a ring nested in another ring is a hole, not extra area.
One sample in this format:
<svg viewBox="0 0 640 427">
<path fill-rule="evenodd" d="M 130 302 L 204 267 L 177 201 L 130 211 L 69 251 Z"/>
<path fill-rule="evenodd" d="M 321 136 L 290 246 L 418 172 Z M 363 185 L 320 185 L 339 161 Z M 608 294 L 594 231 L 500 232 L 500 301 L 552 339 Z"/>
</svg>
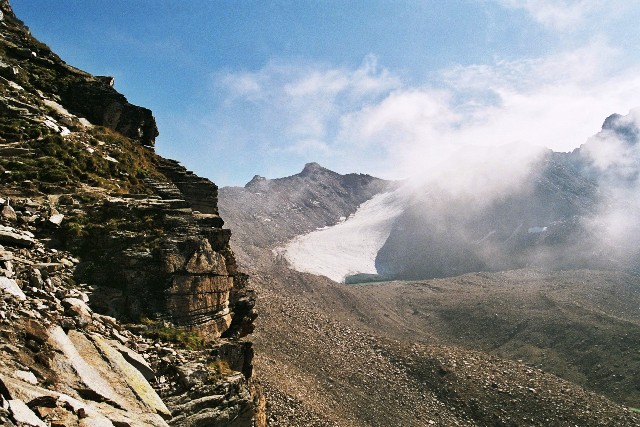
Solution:
<svg viewBox="0 0 640 427">
<path fill-rule="evenodd" d="M 270 63 L 217 76 L 225 102 L 210 121 L 217 140 L 257 147 L 265 163 L 402 178 L 471 147 L 577 148 L 605 117 L 640 104 L 638 67 L 621 58 L 595 39 L 546 58 L 454 66 L 414 86 L 373 56 L 356 68 Z"/>
</svg>

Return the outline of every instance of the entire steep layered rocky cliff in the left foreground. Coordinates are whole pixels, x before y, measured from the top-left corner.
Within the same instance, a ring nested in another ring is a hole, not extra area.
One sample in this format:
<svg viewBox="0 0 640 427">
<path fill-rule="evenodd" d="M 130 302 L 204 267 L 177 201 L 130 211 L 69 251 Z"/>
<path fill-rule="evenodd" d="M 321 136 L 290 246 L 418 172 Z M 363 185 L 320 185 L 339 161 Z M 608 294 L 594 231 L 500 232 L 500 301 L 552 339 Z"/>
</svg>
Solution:
<svg viewBox="0 0 640 427">
<path fill-rule="evenodd" d="M 217 187 L 0 11 L 0 424 L 263 425 Z"/>
</svg>

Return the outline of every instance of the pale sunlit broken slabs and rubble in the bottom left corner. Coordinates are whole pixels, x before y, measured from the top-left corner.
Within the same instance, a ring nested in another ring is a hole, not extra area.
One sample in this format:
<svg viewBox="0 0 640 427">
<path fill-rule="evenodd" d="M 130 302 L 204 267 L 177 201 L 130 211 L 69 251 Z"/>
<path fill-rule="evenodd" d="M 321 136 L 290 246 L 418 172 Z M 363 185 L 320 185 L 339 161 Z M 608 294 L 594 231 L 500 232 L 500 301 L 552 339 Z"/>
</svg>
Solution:
<svg viewBox="0 0 640 427">
<path fill-rule="evenodd" d="M 0 421 L 166 426 L 170 411 L 122 354 L 137 355 L 124 344 L 142 340 L 88 307 L 91 288 L 72 279 L 78 263 L 37 239 L 2 248 L 0 279 L 11 286 L 0 289 L 0 399 L 10 414 Z"/>
</svg>

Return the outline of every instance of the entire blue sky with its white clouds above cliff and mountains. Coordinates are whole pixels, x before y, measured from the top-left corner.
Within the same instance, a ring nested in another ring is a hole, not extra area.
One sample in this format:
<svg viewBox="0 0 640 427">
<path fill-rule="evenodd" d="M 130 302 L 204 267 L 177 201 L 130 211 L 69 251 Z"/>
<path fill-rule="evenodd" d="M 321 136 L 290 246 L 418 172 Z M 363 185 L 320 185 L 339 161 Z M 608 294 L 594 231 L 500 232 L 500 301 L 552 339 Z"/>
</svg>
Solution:
<svg viewBox="0 0 640 427">
<path fill-rule="evenodd" d="M 568 151 L 640 106 L 628 0 L 12 0 L 66 62 L 153 110 L 218 185 L 316 161 L 401 178 L 451 150 Z"/>
</svg>

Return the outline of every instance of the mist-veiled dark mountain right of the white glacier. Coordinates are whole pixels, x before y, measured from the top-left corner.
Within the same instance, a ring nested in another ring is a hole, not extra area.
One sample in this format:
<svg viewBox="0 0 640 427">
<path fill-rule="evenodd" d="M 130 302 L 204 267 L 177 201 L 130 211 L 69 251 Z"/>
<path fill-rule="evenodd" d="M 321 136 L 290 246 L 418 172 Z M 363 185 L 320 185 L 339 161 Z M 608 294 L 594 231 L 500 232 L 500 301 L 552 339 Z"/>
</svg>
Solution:
<svg viewBox="0 0 640 427">
<path fill-rule="evenodd" d="M 416 279 L 522 267 L 637 269 L 637 114 L 608 117 L 572 153 L 541 153 L 524 173 L 503 176 L 509 188 L 449 191 L 432 180 L 413 188 L 378 253 L 378 272 Z"/>
</svg>

